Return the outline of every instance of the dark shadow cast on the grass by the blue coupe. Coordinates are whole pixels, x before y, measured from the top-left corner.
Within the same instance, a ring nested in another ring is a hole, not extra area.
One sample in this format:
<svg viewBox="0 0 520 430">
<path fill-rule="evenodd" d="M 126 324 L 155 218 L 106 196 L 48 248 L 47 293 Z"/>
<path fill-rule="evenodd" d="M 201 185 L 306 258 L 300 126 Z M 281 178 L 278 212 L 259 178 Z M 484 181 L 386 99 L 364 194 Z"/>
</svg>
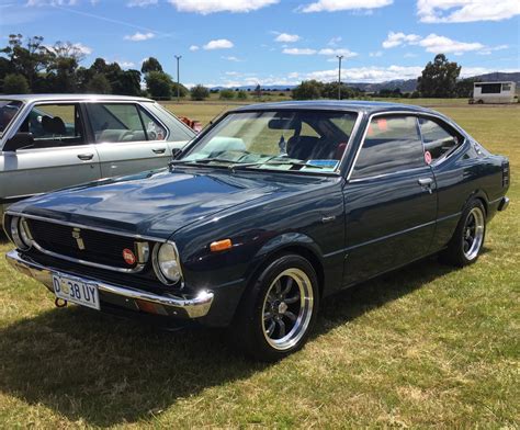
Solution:
<svg viewBox="0 0 520 430">
<path fill-rule="evenodd" d="M 452 270 L 431 258 L 325 299 L 315 336 Z M 0 329 L 0 389 L 74 421 L 135 422 L 268 366 L 225 340 L 222 330 L 168 332 L 79 307 L 53 309 Z"/>
</svg>

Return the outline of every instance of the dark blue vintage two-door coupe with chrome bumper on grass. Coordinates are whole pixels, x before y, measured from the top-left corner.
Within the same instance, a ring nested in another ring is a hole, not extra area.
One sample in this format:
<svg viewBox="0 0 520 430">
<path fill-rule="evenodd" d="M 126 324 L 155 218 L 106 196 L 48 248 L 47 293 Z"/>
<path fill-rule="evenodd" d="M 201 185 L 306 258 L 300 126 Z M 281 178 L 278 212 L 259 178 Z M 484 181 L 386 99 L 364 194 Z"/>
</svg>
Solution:
<svg viewBox="0 0 520 430">
<path fill-rule="evenodd" d="M 276 360 L 324 296 L 432 253 L 475 262 L 509 178 L 507 158 L 427 109 L 249 105 L 162 170 L 11 206 L 8 260 L 58 305 L 228 326 Z"/>
</svg>

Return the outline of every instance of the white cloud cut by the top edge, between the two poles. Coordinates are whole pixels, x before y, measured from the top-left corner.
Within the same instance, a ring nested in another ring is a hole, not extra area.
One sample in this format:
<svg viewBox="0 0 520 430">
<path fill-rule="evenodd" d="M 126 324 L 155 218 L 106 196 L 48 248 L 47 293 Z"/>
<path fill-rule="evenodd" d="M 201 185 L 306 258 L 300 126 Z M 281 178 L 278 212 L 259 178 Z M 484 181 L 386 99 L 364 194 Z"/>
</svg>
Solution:
<svg viewBox="0 0 520 430">
<path fill-rule="evenodd" d="M 203 15 L 215 12 L 251 12 L 278 3 L 280 0 L 168 0 L 180 12 Z"/>
</svg>

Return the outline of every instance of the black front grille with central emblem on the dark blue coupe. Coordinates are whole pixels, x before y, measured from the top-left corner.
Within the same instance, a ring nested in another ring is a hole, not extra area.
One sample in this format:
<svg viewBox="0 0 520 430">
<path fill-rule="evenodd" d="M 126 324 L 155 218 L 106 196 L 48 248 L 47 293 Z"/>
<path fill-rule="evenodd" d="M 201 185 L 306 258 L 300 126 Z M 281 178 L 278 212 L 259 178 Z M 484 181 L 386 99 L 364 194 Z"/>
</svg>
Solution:
<svg viewBox="0 0 520 430">
<path fill-rule="evenodd" d="M 137 271 L 139 262 L 146 263 L 146 261 L 137 261 L 139 253 L 138 242 L 135 238 L 41 219 L 27 218 L 26 223 L 35 247 L 44 253 L 50 252 L 87 263 L 126 271 Z M 136 256 L 134 263 L 129 264 L 123 258 L 125 249 L 132 250 Z"/>
</svg>

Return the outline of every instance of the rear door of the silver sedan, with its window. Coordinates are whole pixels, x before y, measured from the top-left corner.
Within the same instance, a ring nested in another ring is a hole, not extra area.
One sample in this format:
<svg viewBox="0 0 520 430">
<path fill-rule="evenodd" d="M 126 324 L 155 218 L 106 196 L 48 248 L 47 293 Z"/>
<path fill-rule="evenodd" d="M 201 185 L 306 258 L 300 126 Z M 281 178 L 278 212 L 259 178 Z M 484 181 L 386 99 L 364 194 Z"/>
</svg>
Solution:
<svg viewBox="0 0 520 430">
<path fill-rule="evenodd" d="M 168 166 L 168 131 L 137 103 L 86 103 L 104 178 Z"/>
</svg>

